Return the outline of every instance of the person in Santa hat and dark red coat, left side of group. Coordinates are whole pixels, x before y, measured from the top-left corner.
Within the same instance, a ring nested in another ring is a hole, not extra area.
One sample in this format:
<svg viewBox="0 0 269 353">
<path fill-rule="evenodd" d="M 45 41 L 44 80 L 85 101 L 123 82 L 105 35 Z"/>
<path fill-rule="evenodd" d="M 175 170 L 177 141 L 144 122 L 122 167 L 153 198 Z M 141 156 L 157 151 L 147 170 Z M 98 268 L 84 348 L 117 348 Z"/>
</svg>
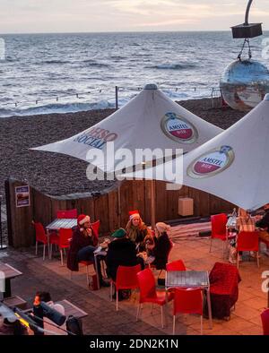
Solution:
<svg viewBox="0 0 269 353">
<path fill-rule="evenodd" d="M 67 268 L 71 271 L 79 271 L 80 261 L 91 261 L 95 268 L 94 251 L 97 249 L 98 237 L 91 228 L 89 216 L 81 214 L 77 219 L 77 227 L 73 230 L 73 237 L 70 242 L 70 249 L 67 256 Z M 109 283 L 102 278 L 100 260 L 102 255 L 97 255 L 97 269 L 100 286 L 109 287 Z"/>
</svg>

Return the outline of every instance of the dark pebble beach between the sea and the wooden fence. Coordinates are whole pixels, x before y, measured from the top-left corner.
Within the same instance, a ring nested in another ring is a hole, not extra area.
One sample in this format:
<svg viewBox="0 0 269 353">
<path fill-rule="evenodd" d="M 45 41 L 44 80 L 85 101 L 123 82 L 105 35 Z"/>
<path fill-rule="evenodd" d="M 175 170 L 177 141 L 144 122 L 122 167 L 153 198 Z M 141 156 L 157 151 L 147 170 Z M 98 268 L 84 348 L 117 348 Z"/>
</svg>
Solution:
<svg viewBox="0 0 269 353">
<path fill-rule="evenodd" d="M 178 103 L 223 129 L 246 114 L 226 107 L 212 108 L 211 99 L 190 99 Z M 86 177 L 87 163 L 80 159 L 29 149 L 80 133 L 114 111 L 102 109 L 1 118 L 0 194 L 4 195 L 4 180 L 11 176 L 27 180 L 42 193 L 51 195 L 97 192 L 113 185 L 111 181 L 89 181 Z"/>
</svg>

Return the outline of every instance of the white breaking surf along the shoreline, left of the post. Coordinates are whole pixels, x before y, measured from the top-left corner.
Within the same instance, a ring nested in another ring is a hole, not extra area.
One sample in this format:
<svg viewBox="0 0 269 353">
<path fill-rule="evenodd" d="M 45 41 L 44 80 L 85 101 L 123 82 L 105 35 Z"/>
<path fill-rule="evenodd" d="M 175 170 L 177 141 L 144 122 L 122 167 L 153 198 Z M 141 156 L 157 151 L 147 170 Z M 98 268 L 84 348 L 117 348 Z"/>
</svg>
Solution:
<svg viewBox="0 0 269 353">
<path fill-rule="evenodd" d="M 115 108 L 114 103 L 108 100 L 100 100 L 94 103 L 65 103 L 65 104 L 48 104 L 39 107 L 30 108 L 2 108 L 0 109 L 0 117 L 8 116 L 35 116 L 40 114 L 64 114 L 75 113 L 80 111 Z"/>
</svg>

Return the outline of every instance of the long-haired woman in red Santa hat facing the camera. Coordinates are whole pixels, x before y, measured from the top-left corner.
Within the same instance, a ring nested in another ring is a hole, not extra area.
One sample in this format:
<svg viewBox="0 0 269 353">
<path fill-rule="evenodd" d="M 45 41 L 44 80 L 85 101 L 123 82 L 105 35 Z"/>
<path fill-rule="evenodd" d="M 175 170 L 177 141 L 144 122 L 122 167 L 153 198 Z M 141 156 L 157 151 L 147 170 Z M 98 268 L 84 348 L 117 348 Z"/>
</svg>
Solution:
<svg viewBox="0 0 269 353">
<path fill-rule="evenodd" d="M 144 251 L 144 238 L 147 235 L 151 235 L 151 230 L 143 223 L 139 211 L 129 211 L 129 220 L 126 224 L 126 232 L 129 239 L 136 245 L 138 252 Z"/>
</svg>

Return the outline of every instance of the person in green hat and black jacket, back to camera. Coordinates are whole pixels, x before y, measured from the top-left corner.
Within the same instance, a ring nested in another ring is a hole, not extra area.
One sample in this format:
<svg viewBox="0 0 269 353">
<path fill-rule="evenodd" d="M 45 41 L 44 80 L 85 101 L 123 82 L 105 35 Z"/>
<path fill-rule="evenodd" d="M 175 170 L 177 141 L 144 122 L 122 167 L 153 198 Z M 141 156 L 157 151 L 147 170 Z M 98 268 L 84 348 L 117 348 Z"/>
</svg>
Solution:
<svg viewBox="0 0 269 353">
<path fill-rule="evenodd" d="M 127 237 L 126 229 L 119 228 L 112 235 L 113 241 L 108 244 L 108 254 L 106 257 L 107 274 L 116 281 L 118 266 L 141 265 L 144 269 L 143 259 L 136 255 L 134 242 Z M 115 295 L 114 295 L 115 297 Z M 118 298 L 123 299 L 122 291 L 119 291 Z"/>
</svg>

